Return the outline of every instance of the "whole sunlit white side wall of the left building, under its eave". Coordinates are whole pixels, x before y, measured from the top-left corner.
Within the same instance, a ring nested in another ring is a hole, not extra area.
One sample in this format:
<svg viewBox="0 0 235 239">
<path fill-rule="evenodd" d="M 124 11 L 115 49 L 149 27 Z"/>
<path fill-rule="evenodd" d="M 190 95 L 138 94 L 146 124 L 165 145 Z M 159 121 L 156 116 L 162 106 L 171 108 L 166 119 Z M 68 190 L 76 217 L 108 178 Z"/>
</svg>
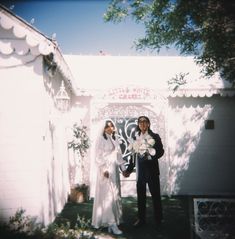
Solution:
<svg viewBox="0 0 235 239">
<path fill-rule="evenodd" d="M 68 122 L 54 101 L 64 78 L 48 76 L 37 46 L 11 29 L 0 27 L 0 36 L 0 221 L 22 208 L 48 224 L 70 191 Z"/>
</svg>

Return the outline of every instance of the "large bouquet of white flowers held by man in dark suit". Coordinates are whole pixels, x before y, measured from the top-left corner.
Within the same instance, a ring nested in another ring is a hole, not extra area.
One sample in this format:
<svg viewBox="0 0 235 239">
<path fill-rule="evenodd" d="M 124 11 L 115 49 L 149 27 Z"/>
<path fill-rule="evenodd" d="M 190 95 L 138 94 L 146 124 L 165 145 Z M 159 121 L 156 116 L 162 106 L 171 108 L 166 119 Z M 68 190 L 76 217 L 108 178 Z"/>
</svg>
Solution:
<svg viewBox="0 0 235 239">
<path fill-rule="evenodd" d="M 132 153 L 138 153 L 141 156 L 154 156 L 156 154 L 156 150 L 153 148 L 155 140 L 150 135 L 147 135 L 144 139 L 129 139 L 129 143 L 128 150 Z"/>
</svg>

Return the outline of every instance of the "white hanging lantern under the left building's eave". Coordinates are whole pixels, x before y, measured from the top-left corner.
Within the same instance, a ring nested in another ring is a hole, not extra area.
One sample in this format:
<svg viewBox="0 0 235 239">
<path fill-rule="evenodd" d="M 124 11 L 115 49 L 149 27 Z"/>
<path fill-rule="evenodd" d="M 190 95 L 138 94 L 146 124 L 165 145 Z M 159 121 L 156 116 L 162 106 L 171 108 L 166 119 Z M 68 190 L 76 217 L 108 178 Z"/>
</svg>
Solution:
<svg viewBox="0 0 235 239">
<path fill-rule="evenodd" d="M 63 80 L 61 81 L 61 86 L 55 96 L 55 100 L 56 106 L 60 111 L 65 112 L 69 109 L 70 97 L 68 96 L 68 93 L 65 90 Z"/>
</svg>

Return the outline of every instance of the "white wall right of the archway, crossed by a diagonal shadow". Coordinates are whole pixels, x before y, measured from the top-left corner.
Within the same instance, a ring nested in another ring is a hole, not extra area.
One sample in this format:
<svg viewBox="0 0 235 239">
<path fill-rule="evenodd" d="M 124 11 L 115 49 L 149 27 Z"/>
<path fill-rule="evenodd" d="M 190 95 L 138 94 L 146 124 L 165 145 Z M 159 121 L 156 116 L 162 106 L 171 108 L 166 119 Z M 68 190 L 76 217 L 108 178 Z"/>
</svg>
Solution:
<svg viewBox="0 0 235 239">
<path fill-rule="evenodd" d="M 185 114 L 180 137 L 170 136 L 177 138 L 170 162 L 172 194 L 235 195 L 234 103 L 234 98 L 219 96 L 169 101 Z M 206 129 L 208 119 L 214 128 Z"/>
</svg>

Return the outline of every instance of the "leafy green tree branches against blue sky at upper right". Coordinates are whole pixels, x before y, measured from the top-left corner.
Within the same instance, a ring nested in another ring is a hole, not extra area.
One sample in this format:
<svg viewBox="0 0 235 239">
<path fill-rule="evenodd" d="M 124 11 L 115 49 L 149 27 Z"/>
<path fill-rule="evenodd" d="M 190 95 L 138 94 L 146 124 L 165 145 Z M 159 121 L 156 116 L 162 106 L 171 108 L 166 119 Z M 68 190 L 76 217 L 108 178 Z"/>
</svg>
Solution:
<svg viewBox="0 0 235 239">
<path fill-rule="evenodd" d="M 194 55 L 206 76 L 216 72 L 235 85 L 235 2 L 229 0 L 112 0 L 106 22 L 128 16 L 144 23 L 145 36 L 137 50 L 157 51 L 174 46 L 182 55 Z"/>
</svg>

